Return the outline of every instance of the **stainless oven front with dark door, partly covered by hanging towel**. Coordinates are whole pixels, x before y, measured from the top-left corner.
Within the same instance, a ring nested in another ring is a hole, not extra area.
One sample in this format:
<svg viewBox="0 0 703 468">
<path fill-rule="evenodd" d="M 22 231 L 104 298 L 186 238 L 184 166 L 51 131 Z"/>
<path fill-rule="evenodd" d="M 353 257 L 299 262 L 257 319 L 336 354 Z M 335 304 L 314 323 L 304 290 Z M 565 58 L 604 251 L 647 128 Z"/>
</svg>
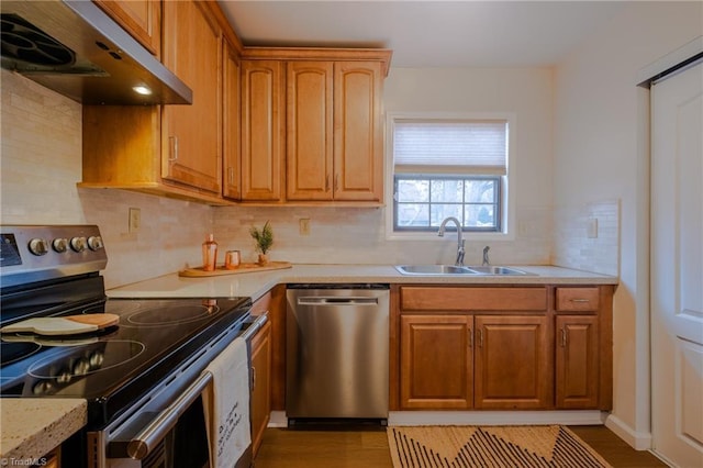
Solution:
<svg viewBox="0 0 703 468">
<path fill-rule="evenodd" d="M 267 314 L 232 326 L 182 363 L 149 394 L 112 424 L 88 433 L 90 468 L 205 468 L 210 467 L 203 393 L 212 376 L 202 370 L 234 338 L 242 336 L 250 349 L 252 337 Z M 250 355 L 250 353 L 249 353 Z M 249 363 L 250 382 L 250 363 Z M 249 467 L 252 447 L 236 468 Z"/>
</svg>

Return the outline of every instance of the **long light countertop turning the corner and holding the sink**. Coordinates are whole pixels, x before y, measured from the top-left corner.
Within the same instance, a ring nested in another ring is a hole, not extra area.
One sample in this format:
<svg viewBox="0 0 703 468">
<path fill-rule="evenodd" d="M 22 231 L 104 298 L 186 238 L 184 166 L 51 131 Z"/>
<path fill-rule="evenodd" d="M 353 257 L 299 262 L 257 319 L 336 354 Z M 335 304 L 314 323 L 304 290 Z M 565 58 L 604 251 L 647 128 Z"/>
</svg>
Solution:
<svg viewBox="0 0 703 468">
<path fill-rule="evenodd" d="M 213 277 L 165 275 L 110 289 L 111 298 L 250 297 L 281 283 L 617 285 L 617 277 L 551 266 L 515 266 L 524 276 L 409 276 L 388 265 L 308 265 Z"/>
</svg>

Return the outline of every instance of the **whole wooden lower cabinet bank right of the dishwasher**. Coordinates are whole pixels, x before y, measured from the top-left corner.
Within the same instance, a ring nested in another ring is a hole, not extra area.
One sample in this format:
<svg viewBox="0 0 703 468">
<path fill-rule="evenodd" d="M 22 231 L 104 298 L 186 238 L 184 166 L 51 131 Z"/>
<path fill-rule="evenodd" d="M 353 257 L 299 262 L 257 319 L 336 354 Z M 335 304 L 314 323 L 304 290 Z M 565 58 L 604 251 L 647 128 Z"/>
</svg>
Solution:
<svg viewBox="0 0 703 468">
<path fill-rule="evenodd" d="M 391 410 L 612 409 L 613 286 L 397 286 Z"/>
</svg>

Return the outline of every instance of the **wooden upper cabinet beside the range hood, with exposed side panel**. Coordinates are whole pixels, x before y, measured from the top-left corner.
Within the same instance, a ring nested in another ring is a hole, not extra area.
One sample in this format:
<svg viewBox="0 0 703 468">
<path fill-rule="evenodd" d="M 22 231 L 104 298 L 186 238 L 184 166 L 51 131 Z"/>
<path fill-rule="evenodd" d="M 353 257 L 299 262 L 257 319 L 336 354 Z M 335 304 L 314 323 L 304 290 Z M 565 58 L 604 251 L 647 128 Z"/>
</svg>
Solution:
<svg viewBox="0 0 703 468">
<path fill-rule="evenodd" d="M 83 105 L 80 187 L 224 204 L 215 9 L 214 2 L 163 3 L 163 62 L 192 89 L 192 105 Z"/>
</svg>

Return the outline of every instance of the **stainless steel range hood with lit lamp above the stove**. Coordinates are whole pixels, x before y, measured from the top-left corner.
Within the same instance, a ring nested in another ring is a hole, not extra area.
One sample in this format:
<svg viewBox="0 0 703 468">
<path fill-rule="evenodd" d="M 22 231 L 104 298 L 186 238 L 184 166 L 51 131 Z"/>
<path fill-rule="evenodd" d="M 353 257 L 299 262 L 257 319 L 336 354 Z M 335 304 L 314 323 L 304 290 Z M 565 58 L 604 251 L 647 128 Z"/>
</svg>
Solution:
<svg viewBox="0 0 703 468">
<path fill-rule="evenodd" d="M 92 1 L 2 0 L 0 11 L 3 68 L 83 104 L 192 103 L 190 88 Z"/>
</svg>

